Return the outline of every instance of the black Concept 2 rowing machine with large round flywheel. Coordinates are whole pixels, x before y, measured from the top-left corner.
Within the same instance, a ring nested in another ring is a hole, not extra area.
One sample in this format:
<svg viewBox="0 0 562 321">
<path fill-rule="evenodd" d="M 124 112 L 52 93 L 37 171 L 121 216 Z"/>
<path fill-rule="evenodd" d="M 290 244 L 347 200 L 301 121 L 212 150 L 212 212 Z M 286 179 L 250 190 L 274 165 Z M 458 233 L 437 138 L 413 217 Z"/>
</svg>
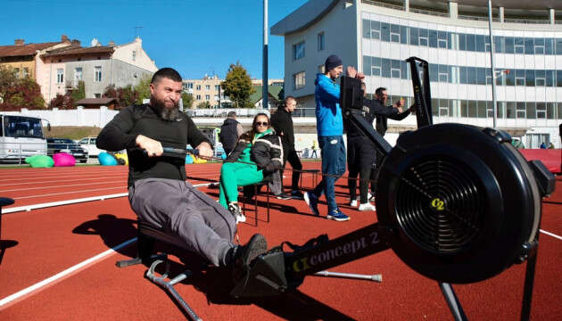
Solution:
<svg viewBox="0 0 562 321">
<path fill-rule="evenodd" d="M 384 154 L 376 185 L 378 223 L 298 251 L 275 248 L 256 259 L 234 296 L 277 295 L 320 269 L 393 249 L 410 268 L 437 281 L 455 319 L 464 320 L 450 284 L 482 281 L 529 259 L 522 319 L 529 318 L 541 197 L 554 191 L 554 177 L 540 161 L 525 161 L 502 131 L 434 125 L 428 64 L 416 57 L 407 62 L 418 128 L 403 133 L 394 147 L 359 116 L 360 81 L 342 78 L 344 117 Z"/>
</svg>

